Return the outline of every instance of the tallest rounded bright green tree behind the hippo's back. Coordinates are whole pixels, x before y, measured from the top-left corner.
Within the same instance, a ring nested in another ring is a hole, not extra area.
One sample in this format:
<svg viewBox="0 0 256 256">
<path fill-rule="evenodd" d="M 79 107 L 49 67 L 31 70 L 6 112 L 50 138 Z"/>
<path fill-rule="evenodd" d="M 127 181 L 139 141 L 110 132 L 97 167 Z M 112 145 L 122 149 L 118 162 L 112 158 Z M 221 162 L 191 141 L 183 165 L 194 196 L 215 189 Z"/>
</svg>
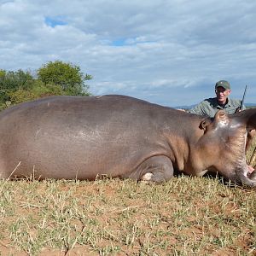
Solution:
<svg viewBox="0 0 256 256">
<path fill-rule="evenodd" d="M 80 67 L 63 61 L 49 61 L 38 69 L 38 79 L 45 86 L 57 85 L 65 95 L 89 95 L 89 86 L 86 80 L 92 79 L 88 74 L 82 73 Z"/>
</svg>

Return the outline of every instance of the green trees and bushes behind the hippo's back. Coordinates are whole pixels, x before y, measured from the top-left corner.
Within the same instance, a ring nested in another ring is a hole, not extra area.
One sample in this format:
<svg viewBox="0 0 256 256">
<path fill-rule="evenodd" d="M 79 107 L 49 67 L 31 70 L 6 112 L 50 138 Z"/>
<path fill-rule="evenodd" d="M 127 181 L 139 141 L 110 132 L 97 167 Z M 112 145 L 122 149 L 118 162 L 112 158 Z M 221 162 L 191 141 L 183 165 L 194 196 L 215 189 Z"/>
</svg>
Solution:
<svg viewBox="0 0 256 256">
<path fill-rule="evenodd" d="M 0 69 L 0 109 L 43 96 L 89 96 L 89 86 L 85 82 L 90 79 L 92 77 L 84 75 L 80 67 L 63 61 L 49 61 L 35 74 L 21 69 Z"/>
</svg>

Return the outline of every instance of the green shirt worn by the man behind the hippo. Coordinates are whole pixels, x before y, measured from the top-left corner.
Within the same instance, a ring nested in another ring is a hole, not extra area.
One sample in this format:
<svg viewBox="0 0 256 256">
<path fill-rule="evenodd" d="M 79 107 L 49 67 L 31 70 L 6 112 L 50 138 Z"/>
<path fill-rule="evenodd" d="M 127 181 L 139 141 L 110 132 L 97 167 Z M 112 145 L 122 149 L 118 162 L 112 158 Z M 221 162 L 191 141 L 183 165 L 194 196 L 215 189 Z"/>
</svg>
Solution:
<svg viewBox="0 0 256 256">
<path fill-rule="evenodd" d="M 234 99 L 227 99 L 228 102 L 224 106 L 220 106 L 218 104 L 217 98 L 209 98 L 206 99 L 202 102 L 200 102 L 195 108 L 191 108 L 189 110 L 189 113 L 197 113 L 201 115 L 207 115 L 209 117 L 214 117 L 215 113 L 219 110 L 222 109 L 226 113 L 231 114 L 235 113 L 236 109 L 240 107 L 241 101 L 240 100 L 234 100 Z M 242 105 L 241 110 L 244 110 L 245 106 Z"/>
</svg>

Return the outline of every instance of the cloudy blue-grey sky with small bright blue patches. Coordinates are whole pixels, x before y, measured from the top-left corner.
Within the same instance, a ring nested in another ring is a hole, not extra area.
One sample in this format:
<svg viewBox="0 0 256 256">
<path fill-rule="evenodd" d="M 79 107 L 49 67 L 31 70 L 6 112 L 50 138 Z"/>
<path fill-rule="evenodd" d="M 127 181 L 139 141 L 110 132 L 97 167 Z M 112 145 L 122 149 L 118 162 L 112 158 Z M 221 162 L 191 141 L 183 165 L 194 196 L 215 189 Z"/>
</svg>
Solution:
<svg viewBox="0 0 256 256">
<path fill-rule="evenodd" d="M 93 95 L 175 107 L 215 96 L 256 102 L 256 1 L 0 0 L 0 69 L 79 66 Z"/>
</svg>

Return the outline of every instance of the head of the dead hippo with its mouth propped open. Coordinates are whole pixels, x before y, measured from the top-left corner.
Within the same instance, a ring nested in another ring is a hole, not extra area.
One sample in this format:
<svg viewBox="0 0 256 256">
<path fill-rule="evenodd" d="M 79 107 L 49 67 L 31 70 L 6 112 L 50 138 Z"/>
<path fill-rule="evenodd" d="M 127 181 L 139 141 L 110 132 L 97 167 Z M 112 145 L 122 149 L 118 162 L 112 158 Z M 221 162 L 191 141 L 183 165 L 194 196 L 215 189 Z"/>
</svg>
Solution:
<svg viewBox="0 0 256 256">
<path fill-rule="evenodd" d="M 198 144 L 204 168 L 234 183 L 255 187 L 256 175 L 248 172 L 245 157 L 247 131 L 255 129 L 255 118 L 256 109 L 233 115 L 219 110 L 214 119 L 204 120 L 205 134 Z"/>
</svg>

